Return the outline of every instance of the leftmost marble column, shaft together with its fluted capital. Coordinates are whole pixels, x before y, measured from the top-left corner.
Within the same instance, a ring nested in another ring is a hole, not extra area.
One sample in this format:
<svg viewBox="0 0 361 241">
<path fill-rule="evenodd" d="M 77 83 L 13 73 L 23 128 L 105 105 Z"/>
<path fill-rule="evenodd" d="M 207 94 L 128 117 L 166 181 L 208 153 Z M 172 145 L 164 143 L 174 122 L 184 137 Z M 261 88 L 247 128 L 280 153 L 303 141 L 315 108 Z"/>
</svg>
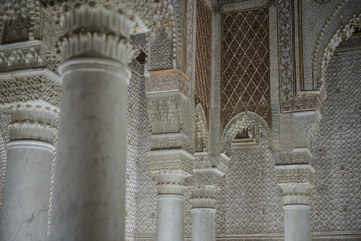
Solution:
<svg viewBox="0 0 361 241">
<path fill-rule="evenodd" d="M 47 240 L 51 160 L 58 112 L 39 103 L 9 108 L 11 123 L 0 240 Z"/>
</svg>

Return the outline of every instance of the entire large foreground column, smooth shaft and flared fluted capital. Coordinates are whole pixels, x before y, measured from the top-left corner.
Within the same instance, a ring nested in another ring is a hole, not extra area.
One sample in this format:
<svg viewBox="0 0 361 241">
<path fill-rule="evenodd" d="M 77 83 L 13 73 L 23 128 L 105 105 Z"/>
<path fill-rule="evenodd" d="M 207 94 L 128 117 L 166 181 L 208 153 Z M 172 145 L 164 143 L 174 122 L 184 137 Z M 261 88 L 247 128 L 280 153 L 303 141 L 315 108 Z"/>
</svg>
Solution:
<svg viewBox="0 0 361 241">
<path fill-rule="evenodd" d="M 149 29 L 152 3 L 44 1 L 64 29 L 49 240 L 124 240 L 129 37 Z"/>
</svg>

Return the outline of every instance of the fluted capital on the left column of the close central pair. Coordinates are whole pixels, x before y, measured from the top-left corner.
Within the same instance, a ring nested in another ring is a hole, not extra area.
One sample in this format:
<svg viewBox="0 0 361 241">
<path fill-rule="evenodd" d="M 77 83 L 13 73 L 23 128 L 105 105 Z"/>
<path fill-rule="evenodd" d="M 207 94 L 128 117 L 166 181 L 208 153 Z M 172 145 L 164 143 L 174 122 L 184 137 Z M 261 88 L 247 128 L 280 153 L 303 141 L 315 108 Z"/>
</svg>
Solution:
<svg viewBox="0 0 361 241">
<path fill-rule="evenodd" d="M 177 171 L 160 171 L 157 173 L 158 183 L 156 185 L 158 194 L 179 194 L 183 195 L 184 172 Z"/>
</svg>

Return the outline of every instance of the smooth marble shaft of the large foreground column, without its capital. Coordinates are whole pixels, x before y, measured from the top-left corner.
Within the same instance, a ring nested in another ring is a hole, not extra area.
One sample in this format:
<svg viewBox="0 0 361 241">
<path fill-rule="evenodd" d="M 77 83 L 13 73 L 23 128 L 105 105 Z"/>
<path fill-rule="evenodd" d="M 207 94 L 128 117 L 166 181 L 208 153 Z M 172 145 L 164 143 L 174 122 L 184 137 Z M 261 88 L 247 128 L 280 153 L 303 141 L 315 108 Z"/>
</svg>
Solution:
<svg viewBox="0 0 361 241">
<path fill-rule="evenodd" d="M 66 60 L 60 71 L 49 240 L 123 240 L 130 70 L 118 61 L 93 57 Z"/>
</svg>

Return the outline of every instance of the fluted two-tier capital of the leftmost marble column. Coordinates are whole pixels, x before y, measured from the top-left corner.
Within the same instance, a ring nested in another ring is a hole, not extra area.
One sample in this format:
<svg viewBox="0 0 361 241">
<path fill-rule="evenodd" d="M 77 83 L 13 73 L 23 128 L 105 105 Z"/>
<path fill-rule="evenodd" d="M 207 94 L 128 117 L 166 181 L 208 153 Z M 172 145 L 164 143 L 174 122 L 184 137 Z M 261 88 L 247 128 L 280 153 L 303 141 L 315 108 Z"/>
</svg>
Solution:
<svg viewBox="0 0 361 241">
<path fill-rule="evenodd" d="M 6 130 L 10 133 L 10 140 L 32 139 L 53 143 L 57 133 L 55 122 L 59 117 L 55 108 L 28 102 L 10 106 L 8 114 L 11 122 Z"/>
</svg>

